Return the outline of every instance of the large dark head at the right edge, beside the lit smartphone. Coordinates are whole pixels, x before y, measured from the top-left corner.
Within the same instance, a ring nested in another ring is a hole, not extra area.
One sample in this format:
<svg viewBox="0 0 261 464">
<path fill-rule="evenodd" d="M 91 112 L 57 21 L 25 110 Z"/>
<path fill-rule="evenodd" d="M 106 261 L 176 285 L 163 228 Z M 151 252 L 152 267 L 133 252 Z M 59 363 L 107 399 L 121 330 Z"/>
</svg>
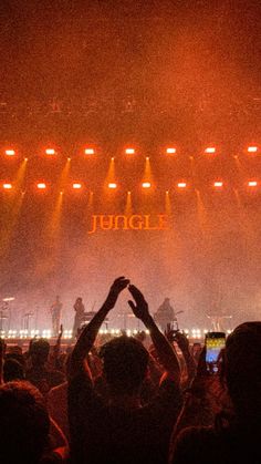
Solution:
<svg viewBox="0 0 261 464">
<path fill-rule="evenodd" d="M 228 337 L 225 373 L 236 412 L 261 413 L 261 322 L 244 322 Z"/>
</svg>

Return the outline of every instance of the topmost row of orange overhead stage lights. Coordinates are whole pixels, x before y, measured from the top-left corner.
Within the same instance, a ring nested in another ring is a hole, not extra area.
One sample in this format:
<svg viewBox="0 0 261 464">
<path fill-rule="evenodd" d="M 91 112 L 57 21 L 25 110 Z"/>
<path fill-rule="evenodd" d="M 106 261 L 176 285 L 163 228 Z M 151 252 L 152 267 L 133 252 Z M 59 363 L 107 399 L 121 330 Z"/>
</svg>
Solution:
<svg viewBox="0 0 261 464">
<path fill-rule="evenodd" d="M 258 146 L 248 146 L 247 147 L 247 153 L 258 153 L 259 152 L 259 147 Z M 137 153 L 136 148 L 134 147 L 128 147 L 124 149 L 125 155 L 135 155 Z M 165 148 L 164 151 L 165 154 L 167 155 L 176 155 L 178 153 L 178 149 L 174 146 L 169 146 L 167 148 Z M 215 146 L 208 146 L 207 148 L 205 148 L 203 151 L 205 154 L 207 155 L 215 155 L 218 153 L 218 149 Z M 4 151 L 4 154 L 7 156 L 15 156 L 17 155 L 17 151 L 13 148 L 7 148 Z M 59 154 L 59 151 L 55 148 L 46 148 L 44 151 L 44 154 L 48 156 L 55 156 Z M 96 149 L 93 147 L 87 147 L 83 149 L 83 154 L 87 155 L 87 156 L 92 156 L 96 154 Z"/>
</svg>

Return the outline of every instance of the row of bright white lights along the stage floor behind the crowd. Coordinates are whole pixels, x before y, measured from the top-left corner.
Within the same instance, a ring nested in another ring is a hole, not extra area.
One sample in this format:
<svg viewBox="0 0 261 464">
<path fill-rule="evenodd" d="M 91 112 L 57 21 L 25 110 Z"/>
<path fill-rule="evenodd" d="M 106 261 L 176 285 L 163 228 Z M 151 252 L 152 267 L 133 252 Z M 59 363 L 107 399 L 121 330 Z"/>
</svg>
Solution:
<svg viewBox="0 0 261 464">
<path fill-rule="evenodd" d="M 190 339 L 203 339 L 206 333 L 208 333 L 209 330 L 207 329 L 185 329 L 184 333 L 190 338 Z M 230 334 L 232 332 L 231 329 L 228 329 L 227 334 Z M 122 333 L 121 329 L 100 329 L 98 333 L 101 336 L 113 336 L 113 337 L 118 337 Z M 126 330 L 126 334 L 128 337 L 133 337 L 133 336 L 137 336 L 139 333 L 139 331 L 137 329 L 130 330 L 127 329 Z M 146 334 L 149 334 L 149 330 L 145 330 Z M 44 338 L 44 339 L 51 339 L 52 338 L 52 330 L 51 329 L 44 329 L 42 331 L 38 330 L 38 329 L 32 329 L 32 330 L 28 330 L 28 329 L 22 329 L 22 330 L 1 330 L 0 331 L 0 338 L 8 338 L 8 339 L 31 339 L 31 338 Z M 72 330 L 64 330 L 63 332 L 63 339 L 65 340 L 70 340 L 72 339 Z"/>
</svg>

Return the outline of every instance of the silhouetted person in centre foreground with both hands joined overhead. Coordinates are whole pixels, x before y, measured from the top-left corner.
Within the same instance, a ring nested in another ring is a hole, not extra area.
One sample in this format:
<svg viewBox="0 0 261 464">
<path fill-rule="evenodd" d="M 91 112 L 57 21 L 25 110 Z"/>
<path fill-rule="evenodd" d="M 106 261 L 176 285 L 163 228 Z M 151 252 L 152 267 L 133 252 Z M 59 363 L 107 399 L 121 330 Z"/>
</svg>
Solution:
<svg viewBox="0 0 261 464">
<path fill-rule="evenodd" d="M 142 406 L 140 388 L 148 352 L 140 341 L 118 337 L 101 350 L 109 400 L 94 391 L 86 357 L 104 319 L 126 289 L 134 315 L 149 330 L 164 377 L 155 400 Z M 75 464 L 167 463 L 168 443 L 181 406 L 177 357 L 148 311 L 142 292 L 124 277 L 114 281 L 102 308 L 81 333 L 69 369 L 69 420 L 72 461 Z"/>
</svg>

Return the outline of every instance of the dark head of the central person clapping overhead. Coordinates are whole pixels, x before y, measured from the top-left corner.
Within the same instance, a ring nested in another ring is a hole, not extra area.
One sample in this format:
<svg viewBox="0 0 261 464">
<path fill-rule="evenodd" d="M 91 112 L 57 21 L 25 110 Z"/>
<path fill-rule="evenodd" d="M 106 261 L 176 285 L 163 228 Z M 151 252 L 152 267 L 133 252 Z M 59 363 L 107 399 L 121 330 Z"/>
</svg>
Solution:
<svg viewBox="0 0 261 464">
<path fill-rule="evenodd" d="M 148 352 L 135 338 L 118 337 L 101 349 L 104 374 L 115 395 L 139 393 L 148 364 Z"/>
</svg>

